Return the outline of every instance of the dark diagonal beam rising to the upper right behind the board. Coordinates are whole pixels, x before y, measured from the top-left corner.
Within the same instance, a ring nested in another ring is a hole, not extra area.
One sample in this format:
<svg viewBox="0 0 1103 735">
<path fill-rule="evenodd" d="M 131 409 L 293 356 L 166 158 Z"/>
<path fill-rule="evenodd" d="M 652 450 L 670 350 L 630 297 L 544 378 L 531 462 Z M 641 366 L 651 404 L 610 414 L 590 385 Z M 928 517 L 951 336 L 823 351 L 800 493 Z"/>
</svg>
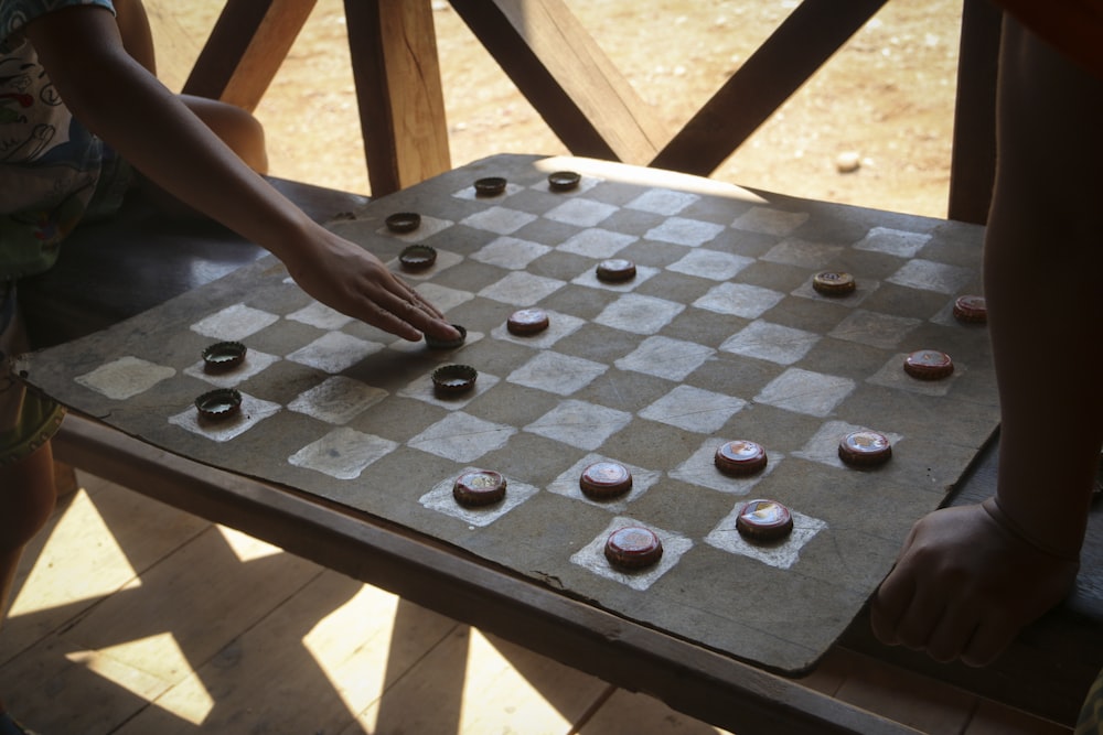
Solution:
<svg viewBox="0 0 1103 735">
<path fill-rule="evenodd" d="M 650 162 L 711 174 L 886 0 L 805 0 Z"/>
</svg>

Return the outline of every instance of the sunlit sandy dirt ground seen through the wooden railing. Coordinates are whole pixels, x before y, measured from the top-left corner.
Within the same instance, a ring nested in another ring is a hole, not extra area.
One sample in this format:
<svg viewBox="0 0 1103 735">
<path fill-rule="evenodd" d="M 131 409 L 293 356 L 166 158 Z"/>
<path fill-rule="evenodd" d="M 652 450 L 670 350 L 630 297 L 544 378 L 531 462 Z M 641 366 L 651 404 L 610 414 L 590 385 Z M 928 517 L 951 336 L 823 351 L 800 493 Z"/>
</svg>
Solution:
<svg viewBox="0 0 1103 735">
<path fill-rule="evenodd" d="M 673 132 L 796 0 L 567 0 Z M 147 0 L 174 89 L 223 0 Z M 370 193 L 342 0 L 319 0 L 256 110 L 271 172 Z M 433 2 L 452 164 L 502 152 L 569 153 L 447 2 Z M 891 0 L 715 173 L 754 188 L 944 216 L 960 0 Z M 843 154 L 860 167 L 840 173 Z"/>
</svg>

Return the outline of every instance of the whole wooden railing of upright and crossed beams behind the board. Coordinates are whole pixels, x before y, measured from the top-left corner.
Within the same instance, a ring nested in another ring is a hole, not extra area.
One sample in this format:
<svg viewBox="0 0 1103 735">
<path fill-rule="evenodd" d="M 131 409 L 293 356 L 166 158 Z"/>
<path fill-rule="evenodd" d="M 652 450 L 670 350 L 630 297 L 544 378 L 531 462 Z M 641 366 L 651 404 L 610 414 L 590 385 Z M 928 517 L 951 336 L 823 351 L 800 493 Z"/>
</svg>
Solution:
<svg viewBox="0 0 1103 735">
<path fill-rule="evenodd" d="M 707 176 L 887 0 L 804 0 L 685 126 L 667 131 L 563 0 L 451 0 L 575 155 Z M 227 0 L 184 91 L 253 110 L 314 0 Z M 345 0 L 375 195 L 451 167 L 429 0 Z M 983 223 L 995 171 L 1000 12 L 964 0 L 951 219 Z"/>
</svg>

